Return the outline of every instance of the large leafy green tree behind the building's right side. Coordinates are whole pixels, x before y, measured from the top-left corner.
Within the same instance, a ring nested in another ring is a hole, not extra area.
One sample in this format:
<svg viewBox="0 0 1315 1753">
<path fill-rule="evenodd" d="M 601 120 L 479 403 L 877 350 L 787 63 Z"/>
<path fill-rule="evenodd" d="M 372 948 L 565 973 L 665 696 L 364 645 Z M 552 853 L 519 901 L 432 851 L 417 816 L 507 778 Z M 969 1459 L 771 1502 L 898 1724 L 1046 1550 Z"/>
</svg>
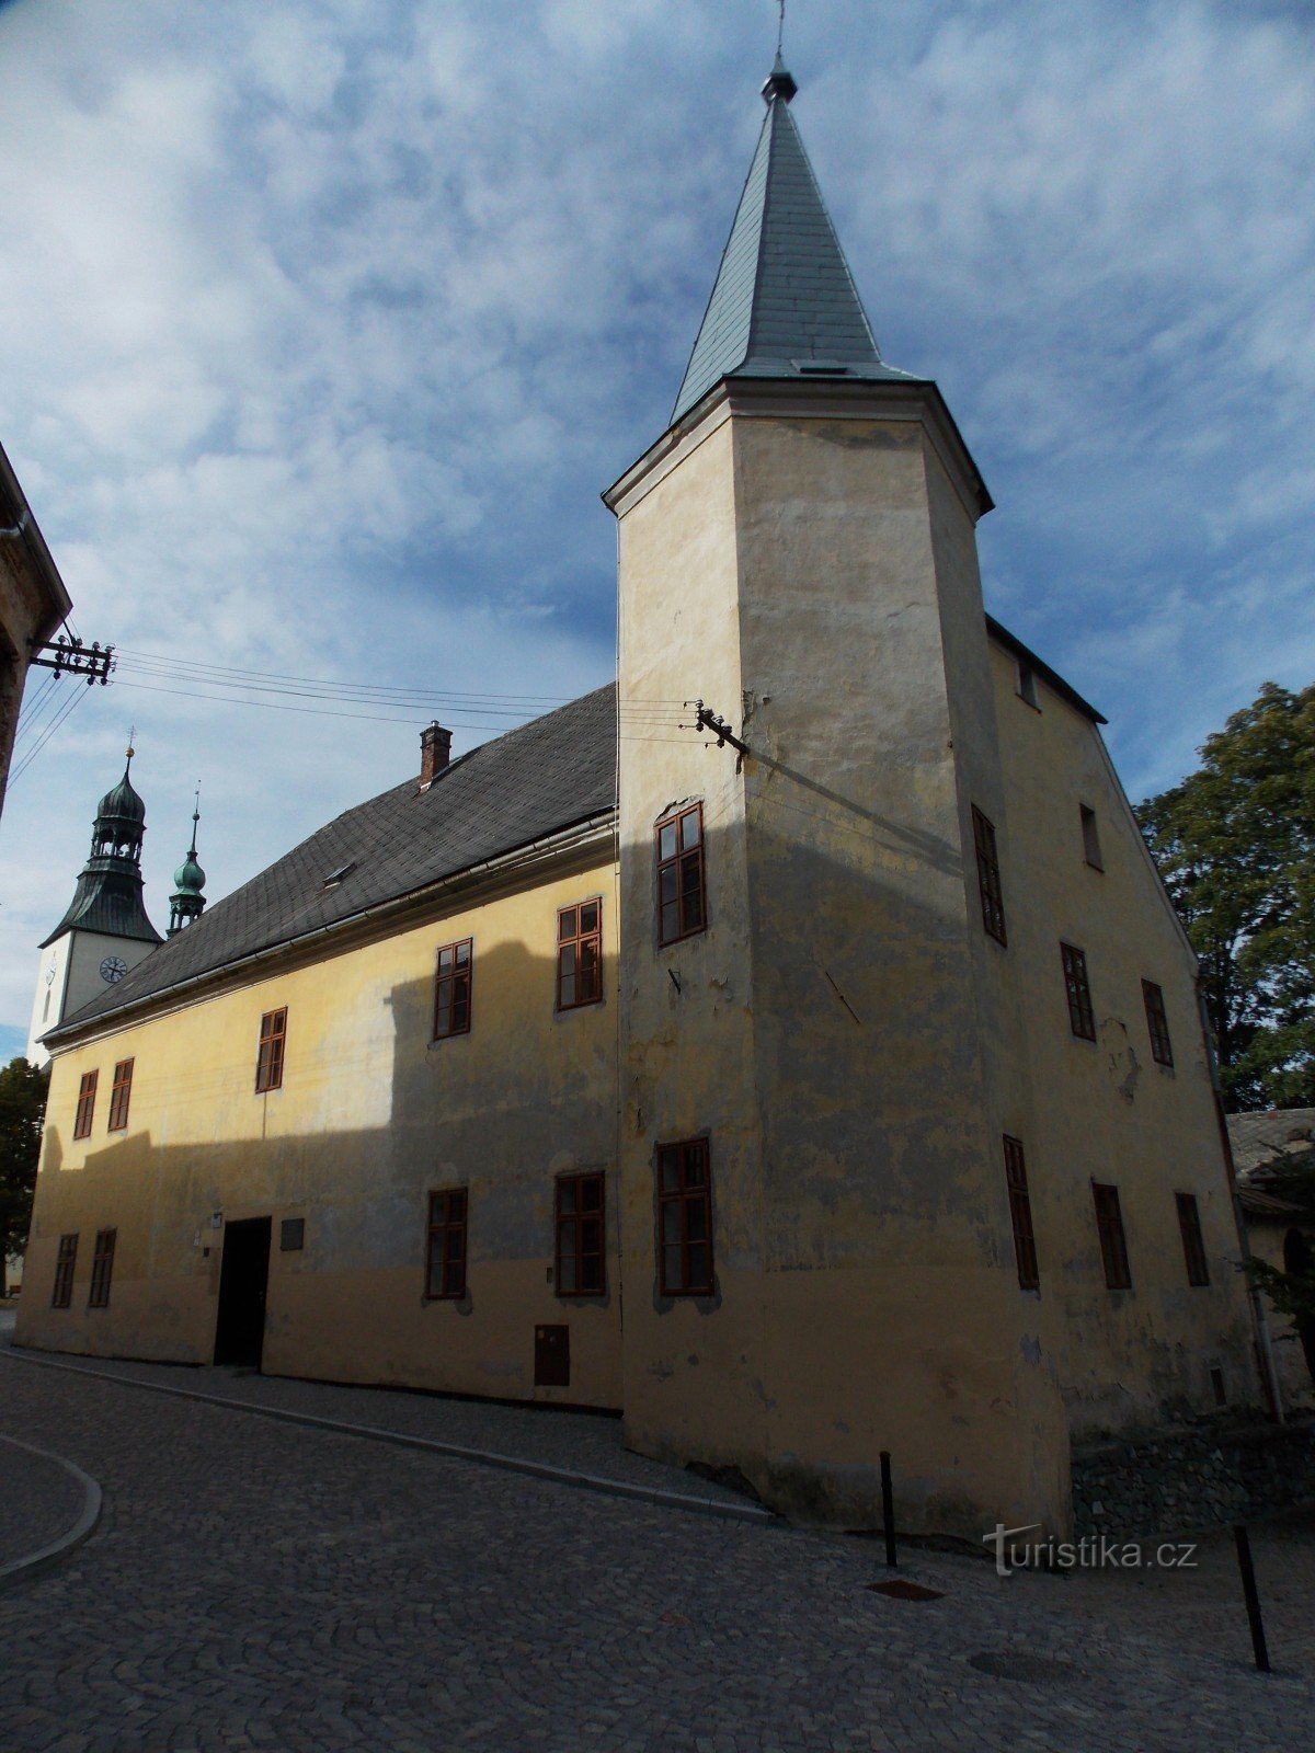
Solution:
<svg viewBox="0 0 1315 1753">
<path fill-rule="evenodd" d="M 1224 1099 L 1315 1106 L 1315 684 L 1266 682 L 1138 820 L 1201 957 Z"/>
</svg>

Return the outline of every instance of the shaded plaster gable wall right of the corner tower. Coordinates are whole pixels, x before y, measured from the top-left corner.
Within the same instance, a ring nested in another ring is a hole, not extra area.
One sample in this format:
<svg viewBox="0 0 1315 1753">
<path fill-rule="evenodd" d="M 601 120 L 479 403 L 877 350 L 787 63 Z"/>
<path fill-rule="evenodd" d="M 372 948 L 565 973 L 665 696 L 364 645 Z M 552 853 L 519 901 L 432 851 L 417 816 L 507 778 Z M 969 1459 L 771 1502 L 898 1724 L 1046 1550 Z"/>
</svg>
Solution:
<svg viewBox="0 0 1315 1753">
<path fill-rule="evenodd" d="M 1196 1003 L 1196 959 L 1155 876 L 1099 731 L 991 643 L 1008 822 L 1010 962 L 1036 1097 L 1027 1173 L 1041 1334 L 1075 1439 L 1259 1404 L 1233 1192 Z M 1103 869 L 1084 855 L 1096 812 Z M 1085 950 L 1096 1041 L 1070 1029 L 1061 940 Z M 1173 1068 L 1150 1054 L 1141 980 L 1164 990 Z M 1092 1182 L 1119 1187 L 1133 1288 L 1105 1285 Z M 1175 1192 L 1196 1194 L 1212 1283 L 1187 1283 Z"/>
</svg>

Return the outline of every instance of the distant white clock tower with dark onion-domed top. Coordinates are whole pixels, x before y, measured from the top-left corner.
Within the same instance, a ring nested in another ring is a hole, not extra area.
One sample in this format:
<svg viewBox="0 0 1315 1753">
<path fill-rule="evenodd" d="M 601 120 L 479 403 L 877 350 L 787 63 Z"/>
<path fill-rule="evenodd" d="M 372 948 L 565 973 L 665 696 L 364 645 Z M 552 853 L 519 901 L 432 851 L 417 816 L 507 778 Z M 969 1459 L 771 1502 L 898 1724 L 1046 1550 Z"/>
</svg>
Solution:
<svg viewBox="0 0 1315 1753">
<path fill-rule="evenodd" d="M 28 1059 L 35 1066 L 44 1066 L 49 1059 L 40 1045 L 47 1029 L 89 1004 L 107 985 L 123 980 L 130 968 L 163 941 L 146 917 L 142 901 L 146 805 L 128 777 L 132 763 L 133 750 L 128 749 L 123 778 L 96 805 L 91 854 L 77 878 L 68 912 L 40 947 L 28 1033 Z"/>
</svg>

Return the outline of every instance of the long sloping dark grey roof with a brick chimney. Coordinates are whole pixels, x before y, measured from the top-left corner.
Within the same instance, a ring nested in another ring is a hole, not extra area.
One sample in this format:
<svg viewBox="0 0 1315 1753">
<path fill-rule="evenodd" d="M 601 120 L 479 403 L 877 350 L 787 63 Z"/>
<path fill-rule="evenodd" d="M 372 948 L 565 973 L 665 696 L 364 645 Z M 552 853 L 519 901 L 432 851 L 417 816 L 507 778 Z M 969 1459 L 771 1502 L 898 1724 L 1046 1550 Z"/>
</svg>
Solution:
<svg viewBox="0 0 1315 1753">
<path fill-rule="evenodd" d="M 394 785 L 216 901 L 46 1040 L 614 810 L 615 754 L 607 685 L 459 756 L 426 792 Z"/>
</svg>

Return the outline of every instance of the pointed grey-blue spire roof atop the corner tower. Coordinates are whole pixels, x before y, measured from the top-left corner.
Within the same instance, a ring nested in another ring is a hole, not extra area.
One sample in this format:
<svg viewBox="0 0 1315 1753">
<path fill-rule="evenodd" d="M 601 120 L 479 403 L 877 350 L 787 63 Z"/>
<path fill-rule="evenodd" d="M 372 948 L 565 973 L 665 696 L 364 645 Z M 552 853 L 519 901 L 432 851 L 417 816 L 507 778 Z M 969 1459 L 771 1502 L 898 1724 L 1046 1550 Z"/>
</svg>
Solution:
<svg viewBox="0 0 1315 1753">
<path fill-rule="evenodd" d="M 780 70 L 784 72 L 784 68 Z M 789 81 L 789 75 L 785 75 Z M 822 202 L 787 86 L 770 79 L 768 114 L 672 421 L 722 377 L 836 375 L 899 379 L 884 365 L 871 324 Z"/>
</svg>

